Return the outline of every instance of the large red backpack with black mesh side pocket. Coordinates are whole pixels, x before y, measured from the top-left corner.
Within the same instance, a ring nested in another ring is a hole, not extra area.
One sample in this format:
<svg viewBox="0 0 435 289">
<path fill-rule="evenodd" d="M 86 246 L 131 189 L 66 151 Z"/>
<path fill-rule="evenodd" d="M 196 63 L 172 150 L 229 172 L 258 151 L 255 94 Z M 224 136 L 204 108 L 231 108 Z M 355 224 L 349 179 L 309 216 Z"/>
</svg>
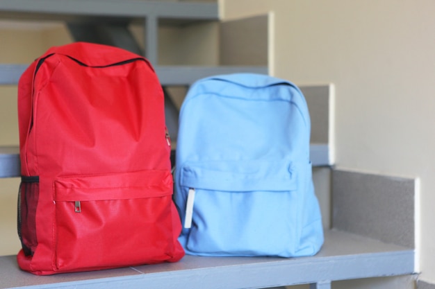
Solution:
<svg viewBox="0 0 435 289">
<path fill-rule="evenodd" d="M 83 42 L 49 49 L 19 80 L 18 112 L 22 270 L 183 257 L 163 90 L 145 58 Z"/>
</svg>

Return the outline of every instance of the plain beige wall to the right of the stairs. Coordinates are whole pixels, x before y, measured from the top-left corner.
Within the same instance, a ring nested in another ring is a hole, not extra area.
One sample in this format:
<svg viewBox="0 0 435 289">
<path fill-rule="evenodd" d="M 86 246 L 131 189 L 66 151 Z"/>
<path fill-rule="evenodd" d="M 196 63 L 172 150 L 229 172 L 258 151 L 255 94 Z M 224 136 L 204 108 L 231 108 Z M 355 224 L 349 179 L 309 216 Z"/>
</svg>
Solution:
<svg viewBox="0 0 435 289">
<path fill-rule="evenodd" d="M 435 2 L 220 4 L 224 19 L 273 12 L 275 76 L 335 84 L 338 168 L 420 179 L 417 265 L 435 283 Z"/>
</svg>

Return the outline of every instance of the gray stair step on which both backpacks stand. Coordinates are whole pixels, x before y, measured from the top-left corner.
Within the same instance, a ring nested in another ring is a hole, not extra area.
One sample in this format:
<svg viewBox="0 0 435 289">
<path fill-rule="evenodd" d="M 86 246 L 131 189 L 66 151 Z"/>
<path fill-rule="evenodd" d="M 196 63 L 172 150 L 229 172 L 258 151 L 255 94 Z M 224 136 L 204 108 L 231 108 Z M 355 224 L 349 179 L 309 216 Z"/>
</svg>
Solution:
<svg viewBox="0 0 435 289">
<path fill-rule="evenodd" d="M 178 263 L 38 277 L 0 257 L 0 288 L 266 288 L 413 272 L 411 249 L 342 231 L 326 231 L 325 245 L 297 259 L 185 256 Z"/>
</svg>

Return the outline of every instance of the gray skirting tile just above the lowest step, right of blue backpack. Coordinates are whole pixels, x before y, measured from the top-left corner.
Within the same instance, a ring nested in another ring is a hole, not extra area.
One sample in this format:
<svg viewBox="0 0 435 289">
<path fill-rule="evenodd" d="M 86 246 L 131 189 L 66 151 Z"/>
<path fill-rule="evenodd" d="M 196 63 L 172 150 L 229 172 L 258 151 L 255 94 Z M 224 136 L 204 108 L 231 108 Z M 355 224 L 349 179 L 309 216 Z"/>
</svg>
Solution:
<svg viewBox="0 0 435 289">
<path fill-rule="evenodd" d="M 414 179 L 334 170 L 333 227 L 413 248 Z"/>
</svg>

